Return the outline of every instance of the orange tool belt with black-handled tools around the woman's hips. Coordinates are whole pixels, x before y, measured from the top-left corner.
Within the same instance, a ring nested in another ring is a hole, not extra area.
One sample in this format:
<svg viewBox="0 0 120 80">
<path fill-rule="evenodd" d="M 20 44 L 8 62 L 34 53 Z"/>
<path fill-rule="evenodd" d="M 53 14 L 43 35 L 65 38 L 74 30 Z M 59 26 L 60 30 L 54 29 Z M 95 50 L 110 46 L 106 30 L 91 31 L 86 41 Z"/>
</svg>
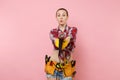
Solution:
<svg viewBox="0 0 120 80">
<path fill-rule="evenodd" d="M 46 55 L 45 57 L 45 72 L 54 75 L 54 71 L 62 71 L 65 77 L 73 76 L 76 74 L 75 71 L 76 61 L 58 63 L 56 61 L 51 61 L 50 57 Z"/>
</svg>

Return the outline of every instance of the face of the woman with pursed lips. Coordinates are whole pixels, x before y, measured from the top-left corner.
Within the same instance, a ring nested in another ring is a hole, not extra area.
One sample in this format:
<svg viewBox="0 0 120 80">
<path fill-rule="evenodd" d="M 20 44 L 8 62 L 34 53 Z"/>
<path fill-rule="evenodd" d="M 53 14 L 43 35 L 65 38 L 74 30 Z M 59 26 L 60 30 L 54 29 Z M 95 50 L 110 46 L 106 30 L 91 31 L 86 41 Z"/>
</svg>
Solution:
<svg viewBox="0 0 120 80">
<path fill-rule="evenodd" d="M 68 16 L 67 16 L 67 13 L 65 10 L 59 10 L 57 13 L 56 13 L 56 18 L 57 18 L 57 21 L 60 25 L 64 25 L 67 23 L 67 19 L 68 19 Z"/>
</svg>

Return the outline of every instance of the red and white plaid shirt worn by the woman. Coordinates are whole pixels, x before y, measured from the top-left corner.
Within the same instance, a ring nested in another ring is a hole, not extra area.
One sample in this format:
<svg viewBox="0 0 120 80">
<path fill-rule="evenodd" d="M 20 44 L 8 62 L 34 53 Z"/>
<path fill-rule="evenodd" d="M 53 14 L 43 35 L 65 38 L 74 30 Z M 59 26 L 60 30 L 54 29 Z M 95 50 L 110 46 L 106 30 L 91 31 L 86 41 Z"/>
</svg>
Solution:
<svg viewBox="0 0 120 80">
<path fill-rule="evenodd" d="M 70 56 L 70 52 L 73 51 L 73 49 L 75 48 L 75 41 L 76 41 L 76 33 L 77 33 L 77 28 L 76 27 L 69 27 L 66 25 L 65 30 L 62 32 L 59 27 L 52 29 L 50 31 L 50 39 L 52 40 L 54 49 L 58 50 L 59 48 L 57 48 L 54 44 L 54 40 L 55 38 L 59 38 L 59 34 L 60 33 L 64 33 L 65 37 L 70 36 L 70 42 L 67 45 L 67 47 L 63 50 L 65 52 L 65 57 Z"/>
</svg>

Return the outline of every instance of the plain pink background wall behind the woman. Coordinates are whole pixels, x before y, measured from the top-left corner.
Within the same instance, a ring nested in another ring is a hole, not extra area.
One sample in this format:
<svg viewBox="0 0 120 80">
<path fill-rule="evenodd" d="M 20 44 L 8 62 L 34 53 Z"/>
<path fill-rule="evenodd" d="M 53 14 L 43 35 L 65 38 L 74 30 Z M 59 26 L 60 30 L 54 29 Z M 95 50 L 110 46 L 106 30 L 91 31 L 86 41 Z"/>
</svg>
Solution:
<svg viewBox="0 0 120 80">
<path fill-rule="evenodd" d="M 120 80 L 119 0 L 0 0 L 0 80 L 46 80 L 55 11 L 78 28 L 75 80 Z"/>
</svg>

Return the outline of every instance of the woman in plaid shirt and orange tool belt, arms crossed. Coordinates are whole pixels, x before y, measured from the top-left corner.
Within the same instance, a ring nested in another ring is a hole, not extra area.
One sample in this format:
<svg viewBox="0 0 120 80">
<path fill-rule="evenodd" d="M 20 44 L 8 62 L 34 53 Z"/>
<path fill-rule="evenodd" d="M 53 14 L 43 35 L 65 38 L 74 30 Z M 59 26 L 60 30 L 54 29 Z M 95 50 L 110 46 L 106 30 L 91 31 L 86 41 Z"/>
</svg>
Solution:
<svg viewBox="0 0 120 80">
<path fill-rule="evenodd" d="M 72 52 L 75 48 L 77 28 L 67 25 L 68 16 L 65 8 L 56 11 L 59 25 L 50 31 L 54 50 L 51 56 L 45 57 L 45 72 L 48 80 L 73 80 L 76 73 Z"/>
</svg>

